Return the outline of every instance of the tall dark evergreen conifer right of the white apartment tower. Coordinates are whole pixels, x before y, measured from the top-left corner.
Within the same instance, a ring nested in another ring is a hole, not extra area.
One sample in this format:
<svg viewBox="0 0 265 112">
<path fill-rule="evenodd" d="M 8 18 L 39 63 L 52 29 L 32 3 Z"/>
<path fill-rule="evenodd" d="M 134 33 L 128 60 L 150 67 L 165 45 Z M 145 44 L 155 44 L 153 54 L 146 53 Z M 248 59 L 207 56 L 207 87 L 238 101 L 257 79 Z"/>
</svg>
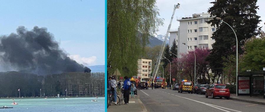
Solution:
<svg viewBox="0 0 265 112">
<path fill-rule="evenodd" d="M 212 7 L 209 8 L 208 13 L 211 17 L 220 17 L 223 21 L 231 25 L 235 30 L 238 39 L 238 53 L 242 54 L 241 46 L 244 45 L 244 40 L 258 35 L 261 27 L 258 27 L 260 16 L 256 15 L 257 0 L 216 0 L 211 2 Z M 212 72 L 220 77 L 223 73 L 223 59 L 231 54 L 236 54 L 236 38 L 232 29 L 219 20 L 209 20 L 208 24 L 216 27 L 212 38 L 215 39 L 211 54 L 207 57 L 210 62 Z"/>
</svg>

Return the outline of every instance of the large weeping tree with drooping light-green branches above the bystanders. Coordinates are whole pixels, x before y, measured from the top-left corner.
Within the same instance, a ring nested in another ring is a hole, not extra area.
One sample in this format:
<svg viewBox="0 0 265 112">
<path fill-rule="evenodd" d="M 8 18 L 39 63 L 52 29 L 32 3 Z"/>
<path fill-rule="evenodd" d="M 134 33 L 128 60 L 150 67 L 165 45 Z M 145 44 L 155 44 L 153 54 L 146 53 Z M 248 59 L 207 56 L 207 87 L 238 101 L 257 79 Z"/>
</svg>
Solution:
<svg viewBox="0 0 265 112">
<path fill-rule="evenodd" d="M 163 19 L 155 0 L 107 1 L 107 64 L 112 74 L 118 68 L 121 74 L 137 74 L 137 61 L 142 56 L 150 35 Z"/>
</svg>

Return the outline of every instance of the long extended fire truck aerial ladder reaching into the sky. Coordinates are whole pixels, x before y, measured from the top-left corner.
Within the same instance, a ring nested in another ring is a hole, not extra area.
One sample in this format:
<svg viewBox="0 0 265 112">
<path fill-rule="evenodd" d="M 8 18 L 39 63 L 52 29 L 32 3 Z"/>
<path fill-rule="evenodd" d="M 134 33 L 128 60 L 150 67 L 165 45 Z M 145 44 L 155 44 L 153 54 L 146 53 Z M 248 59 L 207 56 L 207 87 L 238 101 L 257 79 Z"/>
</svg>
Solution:
<svg viewBox="0 0 265 112">
<path fill-rule="evenodd" d="M 173 17 L 174 17 L 174 14 L 175 14 L 175 11 L 176 11 L 176 8 L 179 8 L 179 3 L 177 5 L 174 5 L 174 11 L 173 11 L 173 14 L 171 16 L 171 20 L 170 20 L 170 24 L 168 26 L 168 31 L 167 31 L 167 34 L 165 36 L 165 40 L 162 44 L 162 47 L 160 49 L 160 53 L 159 53 L 159 56 L 157 58 L 157 61 L 156 61 L 156 64 L 155 64 L 155 69 L 153 71 L 153 74 L 152 74 L 152 77 L 151 77 L 151 82 L 153 82 L 155 80 L 155 77 L 156 77 L 156 73 L 158 71 L 158 68 L 159 68 L 159 65 L 160 65 L 160 61 L 161 61 L 161 58 L 162 58 L 162 55 L 163 55 L 163 52 L 164 52 L 164 48 L 165 48 L 165 43 L 166 43 L 166 40 L 168 38 L 168 32 L 170 30 L 170 27 L 171 27 L 171 23 L 172 23 L 172 20 L 173 20 Z M 170 79 L 171 80 L 171 79 Z"/>
</svg>

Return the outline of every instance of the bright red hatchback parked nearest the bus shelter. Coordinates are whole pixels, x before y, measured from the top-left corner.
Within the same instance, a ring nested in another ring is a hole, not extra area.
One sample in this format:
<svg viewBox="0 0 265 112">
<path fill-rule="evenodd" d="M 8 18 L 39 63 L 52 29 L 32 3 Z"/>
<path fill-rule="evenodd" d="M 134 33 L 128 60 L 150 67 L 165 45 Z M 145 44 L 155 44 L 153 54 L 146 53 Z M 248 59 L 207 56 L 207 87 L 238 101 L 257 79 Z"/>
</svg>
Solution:
<svg viewBox="0 0 265 112">
<path fill-rule="evenodd" d="M 205 97 L 208 98 L 208 96 L 211 96 L 212 99 L 214 97 L 224 97 L 226 99 L 230 98 L 230 91 L 226 88 L 226 85 L 223 84 L 211 84 L 206 89 Z"/>
</svg>

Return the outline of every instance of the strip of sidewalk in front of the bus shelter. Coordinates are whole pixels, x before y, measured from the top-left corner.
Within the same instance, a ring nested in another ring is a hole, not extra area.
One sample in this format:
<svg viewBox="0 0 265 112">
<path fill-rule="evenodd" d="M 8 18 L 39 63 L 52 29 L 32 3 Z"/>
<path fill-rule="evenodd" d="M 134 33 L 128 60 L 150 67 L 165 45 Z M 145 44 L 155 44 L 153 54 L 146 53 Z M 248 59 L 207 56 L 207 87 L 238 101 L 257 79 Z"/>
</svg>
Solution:
<svg viewBox="0 0 265 112">
<path fill-rule="evenodd" d="M 250 97 L 250 96 L 237 96 L 236 97 L 235 95 L 231 94 L 230 99 L 254 103 L 254 104 L 265 105 L 265 99 L 263 97 L 254 97 L 254 96 L 252 96 L 252 97 Z"/>
</svg>

